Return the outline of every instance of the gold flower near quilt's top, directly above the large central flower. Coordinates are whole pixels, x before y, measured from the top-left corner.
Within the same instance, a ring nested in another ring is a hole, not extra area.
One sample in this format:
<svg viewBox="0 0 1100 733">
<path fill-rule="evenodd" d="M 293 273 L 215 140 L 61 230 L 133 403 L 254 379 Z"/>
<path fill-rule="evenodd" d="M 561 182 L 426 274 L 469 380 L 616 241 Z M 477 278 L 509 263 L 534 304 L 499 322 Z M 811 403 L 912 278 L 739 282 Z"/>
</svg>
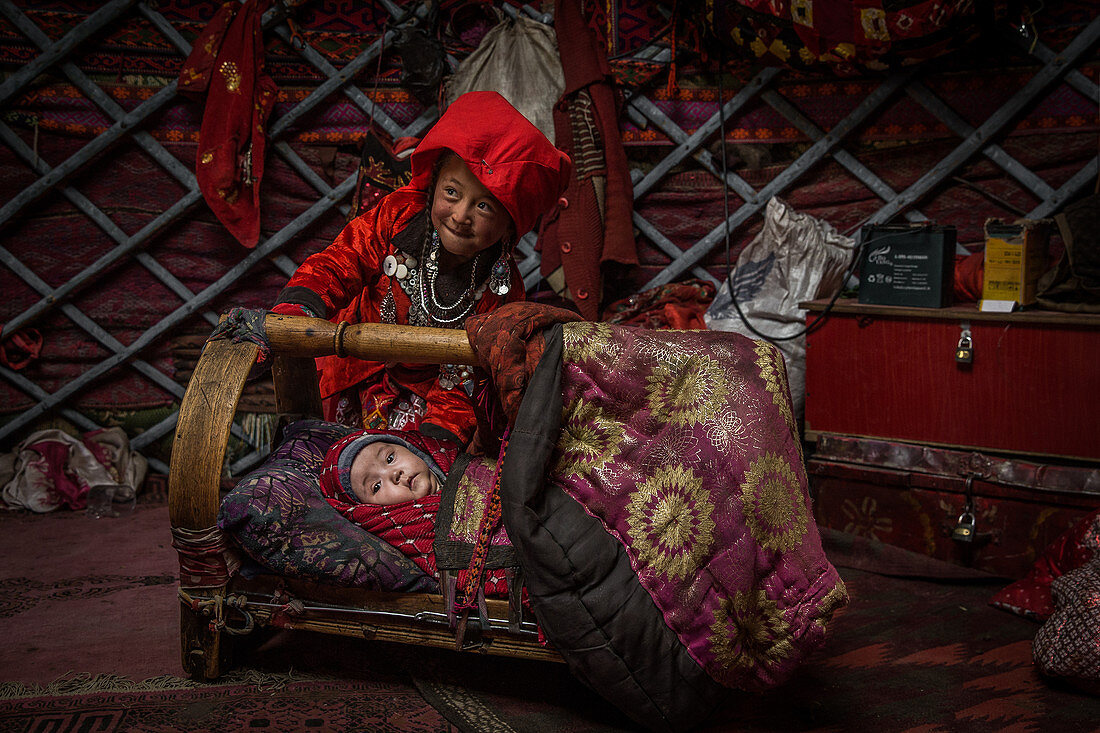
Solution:
<svg viewBox="0 0 1100 733">
<path fill-rule="evenodd" d="M 725 370 L 707 357 L 658 362 L 646 378 L 646 401 L 659 423 L 705 423 L 722 411 L 728 395 Z"/>
</svg>

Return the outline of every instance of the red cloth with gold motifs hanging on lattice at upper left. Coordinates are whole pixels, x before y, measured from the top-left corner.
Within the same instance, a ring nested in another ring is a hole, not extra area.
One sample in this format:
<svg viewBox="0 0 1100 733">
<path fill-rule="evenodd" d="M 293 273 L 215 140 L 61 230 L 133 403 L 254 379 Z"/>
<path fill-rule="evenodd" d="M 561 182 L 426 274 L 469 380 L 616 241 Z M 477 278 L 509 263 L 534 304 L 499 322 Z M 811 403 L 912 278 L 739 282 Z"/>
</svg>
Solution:
<svg viewBox="0 0 1100 733">
<path fill-rule="evenodd" d="M 179 90 L 206 98 L 195 175 L 218 220 L 241 244 L 260 241 L 264 125 L 278 88 L 264 74 L 261 21 L 272 0 L 229 0 L 195 40 Z"/>
</svg>

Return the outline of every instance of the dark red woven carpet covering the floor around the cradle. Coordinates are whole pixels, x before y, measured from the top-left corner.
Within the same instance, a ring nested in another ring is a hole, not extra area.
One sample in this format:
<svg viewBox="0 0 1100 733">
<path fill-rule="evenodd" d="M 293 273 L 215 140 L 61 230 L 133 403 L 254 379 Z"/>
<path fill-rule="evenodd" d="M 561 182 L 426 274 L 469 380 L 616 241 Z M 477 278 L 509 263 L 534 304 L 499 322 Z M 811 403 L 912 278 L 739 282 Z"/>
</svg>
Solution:
<svg viewBox="0 0 1100 733">
<path fill-rule="evenodd" d="M 788 685 L 732 693 L 710 733 L 1100 731 L 1100 699 L 1036 674 L 1037 624 L 988 605 L 1003 580 L 825 541 L 850 605 Z M 186 679 L 163 503 L 0 513 L 0 731 L 639 730 L 564 665 L 307 633 L 258 639 L 216 683 Z"/>
</svg>

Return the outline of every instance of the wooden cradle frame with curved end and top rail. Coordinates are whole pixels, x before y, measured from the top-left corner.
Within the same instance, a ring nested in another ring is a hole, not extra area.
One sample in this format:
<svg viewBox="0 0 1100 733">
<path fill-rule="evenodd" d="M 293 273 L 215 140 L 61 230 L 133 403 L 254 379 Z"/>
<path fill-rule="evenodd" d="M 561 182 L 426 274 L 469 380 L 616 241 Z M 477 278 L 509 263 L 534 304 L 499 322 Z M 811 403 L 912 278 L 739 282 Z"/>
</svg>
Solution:
<svg viewBox="0 0 1100 733">
<path fill-rule="evenodd" d="M 315 357 L 476 363 L 462 330 L 337 326 L 277 315 L 267 316 L 266 330 L 276 408 L 286 415 L 321 415 Z M 490 599 L 487 623 L 471 623 L 457 639 L 440 594 L 369 591 L 277 576 L 246 579 L 235 572 L 226 553 L 232 539 L 216 522 L 230 429 L 255 355 L 252 343 L 209 342 L 180 404 L 168 503 L 180 565 L 180 653 L 188 675 L 216 679 L 233 664 L 234 648 L 246 648 L 264 628 L 562 661 L 539 643 L 534 617 L 518 617 L 504 600 Z"/>
</svg>

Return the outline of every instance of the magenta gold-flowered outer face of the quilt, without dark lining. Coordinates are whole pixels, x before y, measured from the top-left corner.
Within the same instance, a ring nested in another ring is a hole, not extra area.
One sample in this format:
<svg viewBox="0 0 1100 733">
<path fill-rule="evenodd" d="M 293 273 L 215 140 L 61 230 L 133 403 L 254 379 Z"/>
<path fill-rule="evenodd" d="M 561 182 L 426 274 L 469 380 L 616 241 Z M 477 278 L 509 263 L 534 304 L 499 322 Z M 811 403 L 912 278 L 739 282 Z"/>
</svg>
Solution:
<svg viewBox="0 0 1100 733">
<path fill-rule="evenodd" d="M 623 545 L 711 677 L 781 683 L 848 597 L 813 521 L 780 352 L 719 331 L 563 333 L 551 481 Z"/>
</svg>

